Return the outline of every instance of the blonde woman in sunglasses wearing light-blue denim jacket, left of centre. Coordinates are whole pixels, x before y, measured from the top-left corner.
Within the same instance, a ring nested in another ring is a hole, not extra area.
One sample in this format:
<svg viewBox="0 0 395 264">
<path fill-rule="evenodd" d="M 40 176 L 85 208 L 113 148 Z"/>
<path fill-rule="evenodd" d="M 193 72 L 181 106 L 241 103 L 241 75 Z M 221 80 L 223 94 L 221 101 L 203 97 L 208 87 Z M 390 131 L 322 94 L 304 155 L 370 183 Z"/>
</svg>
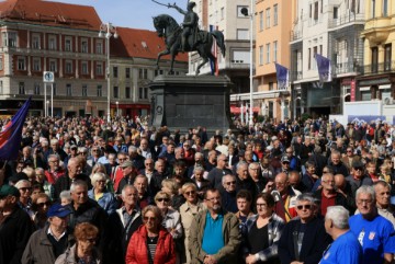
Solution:
<svg viewBox="0 0 395 264">
<path fill-rule="evenodd" d="M 114 213 L 117 209 L 119 203 L 114 194 L 106 191 L 106 175 L 104 173 L 97 172 L 92 175 L 91 182 L 93 188 L 88 192 L 89 198 L 98 202 L 108 215 Z"/>
</svg>

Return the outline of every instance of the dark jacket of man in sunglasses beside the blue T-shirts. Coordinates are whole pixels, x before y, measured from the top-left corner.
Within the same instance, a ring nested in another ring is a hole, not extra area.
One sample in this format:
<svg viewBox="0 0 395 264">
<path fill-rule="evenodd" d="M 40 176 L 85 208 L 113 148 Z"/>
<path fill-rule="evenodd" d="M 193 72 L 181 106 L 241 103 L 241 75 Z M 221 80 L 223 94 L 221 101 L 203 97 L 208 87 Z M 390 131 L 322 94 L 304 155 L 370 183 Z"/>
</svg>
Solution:
<svg viewBox="0 0 395 264">
<path fill-rule="evenodd" d="M 300 219 L 291 220 L 282 231 L 279 241 L 279 256 L 282 264 L 296 261 L 293 237 L 294 233 L 297 236 L 301 225 Z M 317 264 L 331 241 L 332 239 L 325 231 L 323 219 L 314 218 L 306 223 L 298 261 L 304 264 Z"/>
</svg>

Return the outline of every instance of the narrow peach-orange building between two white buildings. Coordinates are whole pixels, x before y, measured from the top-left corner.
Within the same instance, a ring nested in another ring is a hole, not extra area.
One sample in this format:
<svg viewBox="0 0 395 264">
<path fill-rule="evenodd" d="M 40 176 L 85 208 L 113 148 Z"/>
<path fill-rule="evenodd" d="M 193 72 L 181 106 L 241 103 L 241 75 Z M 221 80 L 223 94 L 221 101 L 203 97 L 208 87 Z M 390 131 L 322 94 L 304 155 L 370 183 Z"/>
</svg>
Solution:
<svg viewBox="0 0 395 264">
<path fill-rule="evenodd" d="M 290 69 L 290 34 L 294 1 L 258 0 L 256 4 L 256 74 L 258 92 L 255 105 L 276 122 L 290 117 L 290 87 L 280 90 L 275 65 Z"/>
</svg>

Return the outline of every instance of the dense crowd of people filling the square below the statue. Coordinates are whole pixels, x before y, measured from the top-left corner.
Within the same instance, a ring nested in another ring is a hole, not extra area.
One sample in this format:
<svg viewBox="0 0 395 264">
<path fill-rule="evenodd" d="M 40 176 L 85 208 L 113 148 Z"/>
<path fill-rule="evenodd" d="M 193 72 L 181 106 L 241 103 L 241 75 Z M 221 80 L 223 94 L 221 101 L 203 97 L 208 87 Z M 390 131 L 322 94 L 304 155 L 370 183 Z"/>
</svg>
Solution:
<svg viewBox="0 0 395 264">
<path fill-rule="evenodd" d="M 394 131 L 29 117 L 0 162 L 0 264 L 392 263 Z"/>
</svg>

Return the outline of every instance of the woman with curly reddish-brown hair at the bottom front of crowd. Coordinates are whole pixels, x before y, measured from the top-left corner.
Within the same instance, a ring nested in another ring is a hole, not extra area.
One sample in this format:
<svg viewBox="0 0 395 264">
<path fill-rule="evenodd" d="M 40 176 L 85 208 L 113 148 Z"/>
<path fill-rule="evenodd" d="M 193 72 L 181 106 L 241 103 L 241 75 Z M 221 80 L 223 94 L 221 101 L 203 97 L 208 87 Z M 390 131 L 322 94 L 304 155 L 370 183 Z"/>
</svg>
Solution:
<svg viewBox="0 0 395 264">
<path fill-rule="evenodd" d="M 55 264 L 100 264 L 101 255 L 94 246 L 99 229 L 89 222 L 77 225 L 75 229 L 76 244 L 56 259 Z"/>
</svg>

